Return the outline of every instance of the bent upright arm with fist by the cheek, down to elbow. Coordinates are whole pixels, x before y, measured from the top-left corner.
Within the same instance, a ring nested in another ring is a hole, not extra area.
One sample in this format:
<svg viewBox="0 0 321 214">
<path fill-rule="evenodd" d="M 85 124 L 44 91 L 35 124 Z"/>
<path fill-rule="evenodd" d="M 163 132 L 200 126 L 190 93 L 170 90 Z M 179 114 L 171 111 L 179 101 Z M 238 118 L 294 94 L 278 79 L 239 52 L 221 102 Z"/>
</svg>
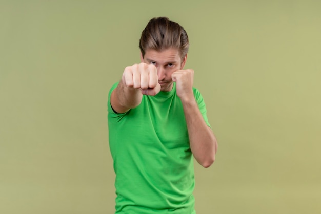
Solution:
<svg viewBox="0 0 321 214">
<path fill-rule="evenodd" d="M 183 104 L 191 151 L 197 162 L 207 168 L 215 160 L 217 141 L 198 109 L 192 90 L 193 78 L 194 71 L 190 69 L 172 74 L 172 79 L 176 82 L 177 96 Z"/>
</svg>

